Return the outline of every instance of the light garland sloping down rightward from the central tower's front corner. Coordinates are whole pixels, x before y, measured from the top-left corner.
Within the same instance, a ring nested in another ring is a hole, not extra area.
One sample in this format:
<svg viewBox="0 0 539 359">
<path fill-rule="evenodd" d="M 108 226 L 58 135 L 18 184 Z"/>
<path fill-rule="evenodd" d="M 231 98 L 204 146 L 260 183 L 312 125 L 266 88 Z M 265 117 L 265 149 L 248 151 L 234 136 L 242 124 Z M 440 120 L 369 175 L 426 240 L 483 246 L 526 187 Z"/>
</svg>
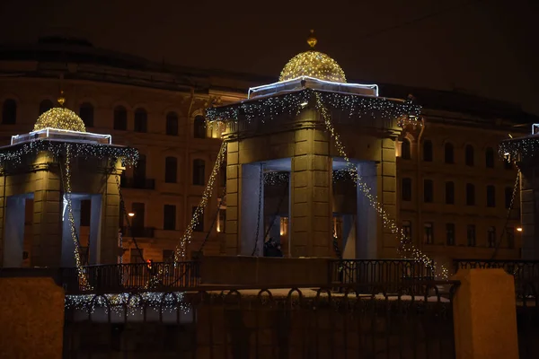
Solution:
<svg viewBox="0 0 539 359">
<path fill-rule="evenodd" d="M 385 212 L 384 206 L 380 204 L 377 200 L 377 197 L 372 194 L 372 189 L 368 187 L 367 183 L 364 182 L 361 178 L 361 176 L 358 175 L 358 171 L 356 169 L 356 166 L 349 161 L 349 157 L 345 151 L 344 145 L 340 142 L 340 136 L 335 130 L 335 127 L 333 127 L 331 123 L 331 116 L 328 113 L 328 110 L 323 105 L 323 99 L 321 96 L 319 96 L 318 93 L 315 93 L 316 95 L 316 108 L 320 110 L 323 116 L 324 124 L 326 126 L 326 129 L 328 132 L 330 132 L 331 137 L 333 138 L 333 141 L 335 142 L 335 146 L 337 147 L 337 150 L 340 153 L 340 156 L 344 158 L 344 160 L 347 163 L 348 171 L 352 179 L 354 179 L 354 182 L 357 183 L 357 186 L 365 197 L 367 197 L 368 201 L 370 202 L 371 206 L 373 206 L 376 209 L 376 212 L 378 215 L 382 217 L 382 220 L 384 222 L 384 226 L 388 226 L 391 230 L 391 232 L 395 235 L 398 235 L 400 237 L 400 248 L 399 250 L 403 252 L 404 257 L 408 257 L 411 255 L 412 258 L 414 258 L 416 261 L 422 263 L 425 267 L 429 267 L 432 269 L 433 273 L 436 273 L 436 262 L 432 261 L 428 256 L 421 253 L 420 250 L 416 249 L 413 244 L 408 243 L 406 240 L 406 236 L 404 232 L 402 232 L 402 229 L 400 229 L 397 224 L 394 222 L 394 220 Z M 448 271 L 446 267 L 441 266 L 440 267 L 442 271 L 442 276 L 444 279 L 448 276 Z"/>
</svg>

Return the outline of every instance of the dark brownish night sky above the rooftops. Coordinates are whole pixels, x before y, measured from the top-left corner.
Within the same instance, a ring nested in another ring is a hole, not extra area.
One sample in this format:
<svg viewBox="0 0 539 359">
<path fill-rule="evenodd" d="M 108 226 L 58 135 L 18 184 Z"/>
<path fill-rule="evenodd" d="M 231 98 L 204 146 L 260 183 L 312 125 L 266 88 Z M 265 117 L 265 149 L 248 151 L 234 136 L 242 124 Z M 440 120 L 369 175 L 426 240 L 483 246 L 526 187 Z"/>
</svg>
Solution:
<svg viewBox="0 0 539 359">
<path fill-rule="evenodd" d="M 315 29 L 317 49 L 349 79 L 457 89 L 539 114 L 538 18 L 539 0 L 1 0 L 0 42 L 62 32 L 175 65 L 277 77 Z"/>
</svg>

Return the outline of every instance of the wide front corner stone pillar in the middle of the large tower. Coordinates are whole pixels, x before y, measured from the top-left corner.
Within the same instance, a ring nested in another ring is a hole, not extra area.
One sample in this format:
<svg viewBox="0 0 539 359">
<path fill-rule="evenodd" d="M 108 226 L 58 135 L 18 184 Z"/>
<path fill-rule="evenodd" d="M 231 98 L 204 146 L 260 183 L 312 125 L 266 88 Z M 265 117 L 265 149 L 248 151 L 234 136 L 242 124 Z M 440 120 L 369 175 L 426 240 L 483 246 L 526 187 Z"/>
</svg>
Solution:
<svg viewBox="0 0 539 359">
<path fill-rule="evenodd" d="M 321 129 L 296 130 L 290 172 L 290 253 L 331 257 L 331 157 Z"/>
</svg>

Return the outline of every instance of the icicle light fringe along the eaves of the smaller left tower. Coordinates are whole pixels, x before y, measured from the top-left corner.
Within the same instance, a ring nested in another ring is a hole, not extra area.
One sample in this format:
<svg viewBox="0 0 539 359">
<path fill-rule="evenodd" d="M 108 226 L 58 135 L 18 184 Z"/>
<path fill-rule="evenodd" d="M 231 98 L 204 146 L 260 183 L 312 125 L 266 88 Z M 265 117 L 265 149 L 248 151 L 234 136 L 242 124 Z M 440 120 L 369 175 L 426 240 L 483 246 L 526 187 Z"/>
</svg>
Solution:
<svg viewBox="0 0 539 359">
<path fill-rule="evenodd" d="M 123 166 L 137 164 L 138 151 L 131 147 L 115 146 L 110 144 L 84 144 L 67 143 L 40 139 L 28 144 L 13 145 L 0 152 L 0 165 L 21 164 L 26 156 L 47 151 L 55 157 L 66 153 L 69 146 L 72 156 L 77 158 L 119 158 Z"/>
</svg>

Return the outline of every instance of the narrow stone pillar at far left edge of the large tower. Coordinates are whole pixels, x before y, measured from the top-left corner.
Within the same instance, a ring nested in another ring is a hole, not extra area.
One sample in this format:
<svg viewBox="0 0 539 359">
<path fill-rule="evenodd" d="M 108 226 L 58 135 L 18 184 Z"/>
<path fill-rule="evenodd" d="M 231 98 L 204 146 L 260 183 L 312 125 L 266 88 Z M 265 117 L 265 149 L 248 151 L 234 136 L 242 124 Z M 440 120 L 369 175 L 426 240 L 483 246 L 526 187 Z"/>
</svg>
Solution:
<svg viewBox="0 0 539 359">
<path fill-rule="evenodd" d="M 231 141 L 226 147 L 226 225 L 225 254 L 240 253 L 238 238 L 240 164 L 238 143 Z"/>
</svg>

